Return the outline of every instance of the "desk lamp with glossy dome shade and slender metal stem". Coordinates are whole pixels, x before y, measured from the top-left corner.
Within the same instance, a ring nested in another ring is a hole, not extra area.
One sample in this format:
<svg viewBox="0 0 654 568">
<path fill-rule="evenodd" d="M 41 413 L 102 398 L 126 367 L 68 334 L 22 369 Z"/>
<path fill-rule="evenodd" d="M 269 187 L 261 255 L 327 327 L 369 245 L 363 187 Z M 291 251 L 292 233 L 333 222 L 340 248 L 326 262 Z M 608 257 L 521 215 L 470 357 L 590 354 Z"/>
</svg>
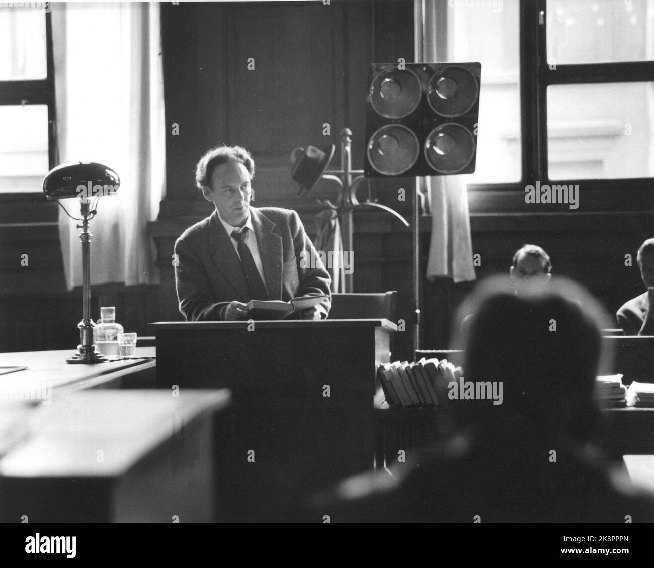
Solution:
<svg viewBox="0 0 654 568">
<path fill-rule="evenodd" d="M 105 165 L 94 162 L 65 163 L 52 169 L 43 180 L 43 192 L 48 200 L 77 197 L 80 199 L 82 218 L 73 217 L 58 201 L 66 214 L 82 224 L 78 229 L 82 241 L 82 321 L 80 329 L 81 344 L 77 353 L 66 359 L 66 363 L 101 363 L 107 358 L 95 352 L 93 342 L 94 322 L 91 319 L 91 238 L 88 222 L 95 217 L 97 201 L 103 195 L 115 195 L 120 187 L 118 174 Z"/>
</svg>

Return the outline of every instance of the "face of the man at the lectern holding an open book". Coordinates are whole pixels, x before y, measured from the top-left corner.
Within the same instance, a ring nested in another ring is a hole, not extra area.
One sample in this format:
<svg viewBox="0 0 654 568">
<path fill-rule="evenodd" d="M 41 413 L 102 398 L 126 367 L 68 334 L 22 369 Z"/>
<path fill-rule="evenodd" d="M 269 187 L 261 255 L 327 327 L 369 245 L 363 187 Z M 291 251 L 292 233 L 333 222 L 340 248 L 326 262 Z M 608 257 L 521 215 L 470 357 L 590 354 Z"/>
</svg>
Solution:
<svg viewBox="0 0 654 568">
<path fill-rule="evenodd" d="M 237 161 L 216 166 L 209 180 L 211 191 L 205 198 L 212 201 L 220 217 L 234 227 L 242 227 L 250 212 L 250 174 Z"/>
</svg>

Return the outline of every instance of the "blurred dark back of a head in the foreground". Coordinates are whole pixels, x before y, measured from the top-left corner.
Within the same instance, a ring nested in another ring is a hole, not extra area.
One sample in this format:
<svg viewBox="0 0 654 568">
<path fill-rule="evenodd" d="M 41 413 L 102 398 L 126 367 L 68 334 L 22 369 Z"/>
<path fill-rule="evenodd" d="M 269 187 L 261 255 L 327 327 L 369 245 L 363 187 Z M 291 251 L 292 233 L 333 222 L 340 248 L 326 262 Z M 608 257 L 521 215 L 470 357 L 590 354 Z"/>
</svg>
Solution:
<svg viewBox="0 0 654 568">
<path fill-rule="evenodd" d="M 502 403 L 454 400 L 456 424 L 484 437 L 519 429 L 521 437 L 584 443 L 598 416 L 598 363 L 610 356 L 600 352 L 599 330 L 608 325 L 608 315 L 571 280 L 525 287 L 519 294 L 513 288 L 508 278 L 490 278 L 460 307 L 461 313 L 475 313 L 456 341 L 466 352 L 465 380 L 501 382 Z"/>
</svg>

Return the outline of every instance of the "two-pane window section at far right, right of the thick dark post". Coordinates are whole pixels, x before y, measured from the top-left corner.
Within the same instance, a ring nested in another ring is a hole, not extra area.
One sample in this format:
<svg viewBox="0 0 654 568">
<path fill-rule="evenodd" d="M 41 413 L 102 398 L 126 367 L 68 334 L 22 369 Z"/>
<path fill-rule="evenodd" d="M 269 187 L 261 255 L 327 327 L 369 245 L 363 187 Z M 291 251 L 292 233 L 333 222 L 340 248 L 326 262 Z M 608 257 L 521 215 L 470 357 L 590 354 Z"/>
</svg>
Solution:
<svg viewBox="0 0 654 568">
<path fill-rule="evenodd" d="M 654 176 L 654 0 L 549 0 L 543 12 L 542 175 Z"/>
</svg>

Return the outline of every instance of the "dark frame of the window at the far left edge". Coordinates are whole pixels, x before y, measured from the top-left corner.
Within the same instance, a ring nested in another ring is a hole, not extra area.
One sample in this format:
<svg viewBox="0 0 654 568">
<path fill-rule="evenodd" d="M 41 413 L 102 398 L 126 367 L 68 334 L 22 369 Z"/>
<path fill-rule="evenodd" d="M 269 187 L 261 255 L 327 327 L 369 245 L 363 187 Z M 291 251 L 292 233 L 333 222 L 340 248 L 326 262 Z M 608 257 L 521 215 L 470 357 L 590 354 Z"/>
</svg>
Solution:
<svg viewBox="0 0 654 568">
<path fill-rule="evenodd" d="M 57 121 L 54 84 L 54 52 L 52 50 L 51 12 L 44 12 L 46 33 L 46 78 L 0 81 L 0 105 L 47 105 L 48 107 L 48 171 L 58 161 Z M 0 202 L 47 201 L 43 191 L 0 192 Z"/>
</svg>

